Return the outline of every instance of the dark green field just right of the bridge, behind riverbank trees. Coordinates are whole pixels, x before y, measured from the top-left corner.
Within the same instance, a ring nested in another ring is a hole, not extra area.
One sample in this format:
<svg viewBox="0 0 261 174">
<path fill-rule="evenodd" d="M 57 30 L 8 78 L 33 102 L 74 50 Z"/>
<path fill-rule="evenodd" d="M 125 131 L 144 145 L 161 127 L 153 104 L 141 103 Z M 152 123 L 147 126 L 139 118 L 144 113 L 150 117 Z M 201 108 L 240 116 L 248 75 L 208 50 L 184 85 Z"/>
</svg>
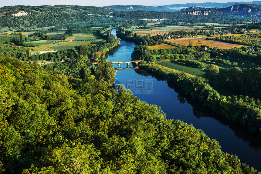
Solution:
<svg viewBox="0 0 261 174">
<path fill-rule="evenodd" d="M 157 64 L 171 68 L 171 69 L 176 69 L 178 71 L 186 72 L 188 74 L 200 76 L 205 79 L 204 69 L 198 69 L 198 68 L 188 66 L 188 65 L 185 65 L 182 63 L 174 62 L 174 61 L 173 62 L 159 62 Z"/>
</svg>

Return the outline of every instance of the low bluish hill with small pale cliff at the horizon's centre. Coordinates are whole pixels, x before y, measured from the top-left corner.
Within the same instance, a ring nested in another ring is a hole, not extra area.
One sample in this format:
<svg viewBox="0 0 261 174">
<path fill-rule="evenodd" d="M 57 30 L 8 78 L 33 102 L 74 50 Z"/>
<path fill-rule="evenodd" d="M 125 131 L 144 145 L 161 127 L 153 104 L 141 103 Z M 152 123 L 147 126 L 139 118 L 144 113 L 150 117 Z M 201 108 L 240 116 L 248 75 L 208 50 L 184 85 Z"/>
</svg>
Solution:
<svg viewBox="0 0 261 174">
<path fill-rule="evenodd" d="M 105 8 L 110 8 L 113 10 L 117 11 L 136 11 L 136 10 L 147 10 L 147 11 L 158 11 L 158 12 L 174 12 L 177 10 L 173 10 L 171 8 L 167 8 L 164 6 L 158 6 L 158 7 L 153 7 L 153 6 L 144 6 L 144 5 L 108 5 L 105 6 Z"/>
</svg>

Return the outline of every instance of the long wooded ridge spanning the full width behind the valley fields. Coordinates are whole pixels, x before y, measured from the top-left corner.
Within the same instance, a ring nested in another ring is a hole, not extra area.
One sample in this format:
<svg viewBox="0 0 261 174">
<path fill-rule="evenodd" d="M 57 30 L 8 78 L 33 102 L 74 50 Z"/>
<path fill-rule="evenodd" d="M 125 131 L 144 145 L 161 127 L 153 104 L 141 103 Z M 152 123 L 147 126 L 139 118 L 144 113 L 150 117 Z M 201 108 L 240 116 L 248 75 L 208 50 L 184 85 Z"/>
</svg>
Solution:
<svg viewBox="0 0 261 174">
<path fill-rule="evenodd" d="M 203 10 L 204 11 L 204 10 Z M 203 12 L 202 11 L 202 12 Z M 26 15 L 15 16 L 18 12 L 25 12 Z M 111 13 L 113 12 L 113 13 Z M 27 27 L 35 29 L 49 26 L 100 26 L 101 23 L 125 23 L 139 21 L 141 19 L 164 19 L 168 22 L 234 22 L 250 21 L 252 18 L 238 17 L 222 12 L 208 10 L 208 15 L 190 15 L 191 11 L 183 12 L 157 12 L 137 10 L 130 12 L 119 12 L 109 8 L 78 6 L 78 5 L 41 5 L 41 6 L 5 6 L 0 8 L 0 31 L 5 32 L 12 29 Z M 113 18 L 109 17 L 110 15 Z M 256 20 L 259 17 L 253 17 Z M 94 25 L 93 25 L 94 26 Z"/>
</svg>

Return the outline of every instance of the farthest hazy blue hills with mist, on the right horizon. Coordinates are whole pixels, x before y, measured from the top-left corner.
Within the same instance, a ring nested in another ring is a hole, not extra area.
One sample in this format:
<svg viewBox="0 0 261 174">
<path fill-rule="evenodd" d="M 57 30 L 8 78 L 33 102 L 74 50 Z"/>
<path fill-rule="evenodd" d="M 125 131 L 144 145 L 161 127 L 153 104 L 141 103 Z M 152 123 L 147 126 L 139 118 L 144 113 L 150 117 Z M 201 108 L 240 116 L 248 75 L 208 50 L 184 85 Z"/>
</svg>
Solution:
<svg viewBox="0 0 261 174">
<path fill-rule="evenodd" d="M 226 2 L 226 3 L 218 3 L 218 2 L 202 2 L 202 3 L 186 3 L 186 4 L 172 4 L 172 5 L 164 5 L 164 7 L 173 9 L 175 11 L 181 10 L 182 8 L 188 7 L 205 7 L 205 8 L 225 8 L 236 4 L 261 4 L 261 1 L 253 1 L 253 2 Z"/>
</svg>

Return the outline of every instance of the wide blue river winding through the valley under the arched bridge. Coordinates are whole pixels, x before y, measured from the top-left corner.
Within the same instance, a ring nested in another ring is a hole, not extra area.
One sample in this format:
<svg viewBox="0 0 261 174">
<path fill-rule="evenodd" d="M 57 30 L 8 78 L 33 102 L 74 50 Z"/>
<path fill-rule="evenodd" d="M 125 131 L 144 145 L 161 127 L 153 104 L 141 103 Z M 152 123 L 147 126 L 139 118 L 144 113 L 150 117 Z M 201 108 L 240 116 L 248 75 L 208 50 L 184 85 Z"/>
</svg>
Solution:
<svg viewBox="0 0 261 174">
<path fill-rule="evenodd" d="M 110 31 L 116 36 L 116 29 Z M 120 45 L 107 52 L 108 61 L 131 60 L 136 43 L 121 40 Z M 114 64 L 118 68 L 118 64 Z M 127 63 L 120 64 L 121 68 Z M 130 64 L 130 67 L 133 67 Z M 169 86 L 160 77 L 140 69 L 117 70 L 116 84 L 124 84 L 138 99 L 158 105 L 166 113 L 166 119 L 179 119 L 203 130 L 211 139 L 216 139 L 223 152 L 239 157 L 240 162 L 261 171 L 261 138 L 256 134 L 203 106 L 197 100 L 184 94 L 180 88 Z"/>
</svg>

